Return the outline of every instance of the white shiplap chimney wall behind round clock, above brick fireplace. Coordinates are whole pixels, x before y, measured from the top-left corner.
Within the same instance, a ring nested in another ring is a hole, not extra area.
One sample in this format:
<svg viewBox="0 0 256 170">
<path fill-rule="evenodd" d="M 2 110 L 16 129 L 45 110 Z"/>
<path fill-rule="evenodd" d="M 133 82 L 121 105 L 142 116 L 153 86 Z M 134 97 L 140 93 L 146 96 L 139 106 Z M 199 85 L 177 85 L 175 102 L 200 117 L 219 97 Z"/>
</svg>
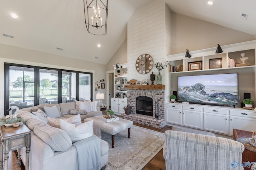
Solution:
<svg viewBox="0 0 256 170">
<path fill-rule="evenodd" d="M 135 68 L 135 61 L 141 54 L 146 53 L 152 56 L 154 63 L 165 64 L 167 55 L 170 55 L 170 22 L 170 10 L 165 3 L 159 1 L 136 10 L 131 16 L 127 24 L 128 80 L 148 79 L 150 84 L 150 74 L 154 72 L 157 76 L 158 70 L 155 67 L 148 74 L 139 74 Z M 161 73 L 163 84 L 167 83 L 167 72 L 168 68 L 165 68 Z M 166 92 L 168 91 L 166 86 Z M 169 93 L 165 93 L 167 101 L 168 95 Z"/>
</svg>

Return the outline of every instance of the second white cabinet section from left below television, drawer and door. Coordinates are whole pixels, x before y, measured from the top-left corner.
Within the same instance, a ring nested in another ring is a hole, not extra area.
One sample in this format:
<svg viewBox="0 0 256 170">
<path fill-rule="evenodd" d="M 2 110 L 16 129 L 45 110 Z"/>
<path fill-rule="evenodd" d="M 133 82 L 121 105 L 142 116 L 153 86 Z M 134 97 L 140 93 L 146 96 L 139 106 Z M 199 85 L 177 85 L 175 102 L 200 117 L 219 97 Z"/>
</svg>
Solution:
<svg viewBox="0 0 256 170">
<path fill-rule="evenodd" d="M 202 107 L 183 106 L 183 125 L 197 129 L 203 129 Z"/>
</svg>

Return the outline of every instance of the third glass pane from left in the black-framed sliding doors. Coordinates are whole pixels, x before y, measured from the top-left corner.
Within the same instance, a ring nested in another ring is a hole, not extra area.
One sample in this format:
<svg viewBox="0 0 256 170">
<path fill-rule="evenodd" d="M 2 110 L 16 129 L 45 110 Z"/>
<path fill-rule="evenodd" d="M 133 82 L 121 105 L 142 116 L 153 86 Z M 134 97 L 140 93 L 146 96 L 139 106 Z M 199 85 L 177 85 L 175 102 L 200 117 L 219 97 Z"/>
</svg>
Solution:
<svg viewBox="0 0 256 170">
<path fill-rule="evenodd" d="M 76 100 L 76 73 L 62 71 L 61 79 L 61 102 L 75 102 Z"/>
</svg>

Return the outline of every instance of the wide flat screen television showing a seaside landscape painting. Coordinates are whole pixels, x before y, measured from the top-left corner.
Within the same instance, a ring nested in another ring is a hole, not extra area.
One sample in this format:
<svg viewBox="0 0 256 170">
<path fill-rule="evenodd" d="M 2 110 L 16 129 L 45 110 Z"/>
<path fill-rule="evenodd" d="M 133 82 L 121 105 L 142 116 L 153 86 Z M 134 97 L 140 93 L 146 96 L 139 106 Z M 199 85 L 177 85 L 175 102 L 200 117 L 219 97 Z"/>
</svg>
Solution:
<svg viewBox="0 0 256 170">
<path fill-rule="evenodd" d="M 238 105 L 238 73 L 178 76 L 178 101 Z"/>
</svg>

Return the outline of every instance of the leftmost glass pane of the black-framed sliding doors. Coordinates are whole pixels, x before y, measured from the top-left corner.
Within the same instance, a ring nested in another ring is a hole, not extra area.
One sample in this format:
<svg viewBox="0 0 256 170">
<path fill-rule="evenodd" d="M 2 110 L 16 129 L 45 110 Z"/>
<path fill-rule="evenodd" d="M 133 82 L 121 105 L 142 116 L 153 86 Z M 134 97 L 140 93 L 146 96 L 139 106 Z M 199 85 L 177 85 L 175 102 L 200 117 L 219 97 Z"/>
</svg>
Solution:
<svg viewBox="0 0 256 170">
<path fill-rule="evenodd" d="M 34 106 L 34 68 L 9 66 L 8 84 L 10 106 Z"/>
</svg>

